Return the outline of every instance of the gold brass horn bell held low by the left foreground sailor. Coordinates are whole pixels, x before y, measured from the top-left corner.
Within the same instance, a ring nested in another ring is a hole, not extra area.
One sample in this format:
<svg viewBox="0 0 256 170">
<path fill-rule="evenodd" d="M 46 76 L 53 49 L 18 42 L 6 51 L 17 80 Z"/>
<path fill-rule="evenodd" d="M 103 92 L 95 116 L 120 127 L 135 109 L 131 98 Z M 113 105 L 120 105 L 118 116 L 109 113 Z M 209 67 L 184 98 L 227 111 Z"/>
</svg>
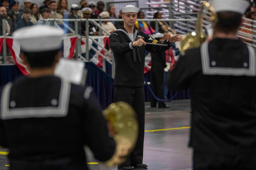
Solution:
<svg viewBox="0 0 256 170">
<path fill-rule="evenodd" d="M 114 131 L 113 138 L 116 145 L 125 144 L 132 151 L 138 138 L 138 121 L 134 109 L 128 103 L 120 101 L 110 104 L 103 111 L 103 115 Z M 123 159 L 123 162 L 125 160 L 126 158 Z M 110 159 L 103 164 L 111 167 L 115 165 L 115 162 Z"/>
</svg>

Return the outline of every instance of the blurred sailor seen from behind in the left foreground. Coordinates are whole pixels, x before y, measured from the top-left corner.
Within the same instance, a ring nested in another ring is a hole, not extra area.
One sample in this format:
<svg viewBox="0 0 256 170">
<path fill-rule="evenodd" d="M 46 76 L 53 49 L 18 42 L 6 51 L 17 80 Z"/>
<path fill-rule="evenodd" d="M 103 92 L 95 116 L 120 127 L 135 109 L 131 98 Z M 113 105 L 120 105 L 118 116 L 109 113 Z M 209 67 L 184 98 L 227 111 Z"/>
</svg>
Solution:
<svg viewBox="0 0 256 170">
<path fill-rule="evenodd" d="M 84 145 L 100 161 L 128 154 L 109 136 L 92 87 L 54 76 L 63 35 L 45 25 L 13 34 L 30 73 L 0 91 L 0 146 L 9 148 L 10 169 L 88 169 Z"/>
</svg>

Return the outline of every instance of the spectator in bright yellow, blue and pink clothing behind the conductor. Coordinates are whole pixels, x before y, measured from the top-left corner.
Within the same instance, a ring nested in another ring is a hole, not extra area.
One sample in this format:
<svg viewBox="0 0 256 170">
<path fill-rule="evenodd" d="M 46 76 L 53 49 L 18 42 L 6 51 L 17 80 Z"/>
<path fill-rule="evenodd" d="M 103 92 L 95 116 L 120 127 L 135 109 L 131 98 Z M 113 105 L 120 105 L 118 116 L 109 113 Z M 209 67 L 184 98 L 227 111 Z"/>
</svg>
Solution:
<svg viewBox="0 0 256 170">
<path fill-rule="evenodd" d="M 138 19 L 144 19 L 145 14 L 144 12 L 140 11 L 137 14 Z M 134 28 L 138 31 L 142 31 L 146 34 L 154 34 L 156 31 L 151 27 L 150 23 L 147 23 L 145 21 L 136 21 Z"/>
</svg>

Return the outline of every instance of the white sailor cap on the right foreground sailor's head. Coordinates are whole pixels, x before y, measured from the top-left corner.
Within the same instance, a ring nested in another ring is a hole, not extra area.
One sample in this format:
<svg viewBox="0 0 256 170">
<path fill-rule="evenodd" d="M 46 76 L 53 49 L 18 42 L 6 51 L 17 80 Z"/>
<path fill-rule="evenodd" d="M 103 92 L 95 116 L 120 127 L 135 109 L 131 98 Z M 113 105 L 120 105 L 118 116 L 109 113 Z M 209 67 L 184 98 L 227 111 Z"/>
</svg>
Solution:
<svg viewBox="0 0 256 170">
<path fill-rule="evenodd" d="M 249 2 L 245 0 L 213 0 L 210 6 L 215 12 L 230 11 L 244 14 L 248 8 Z"/>
</svg>

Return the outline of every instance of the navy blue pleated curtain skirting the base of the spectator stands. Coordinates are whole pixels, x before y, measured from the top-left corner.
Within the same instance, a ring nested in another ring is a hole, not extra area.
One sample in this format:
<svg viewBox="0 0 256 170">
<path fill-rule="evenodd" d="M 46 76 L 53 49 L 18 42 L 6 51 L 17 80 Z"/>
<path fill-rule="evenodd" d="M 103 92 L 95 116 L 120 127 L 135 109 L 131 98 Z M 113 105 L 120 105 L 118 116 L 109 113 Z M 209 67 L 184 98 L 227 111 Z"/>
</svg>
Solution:
<svg viewBox="0 0 256 170">
<path fill-rule="evenodd" d="M 88 75 L 86 83 L 95 89 L 97 98 L 101 103 L 102 109 L 109 106 L 114 101 L 114 79 L 111 77 L 111 65 L 106 62 L 108 74 L 102 71 L 92 62 L 86 62 L 86 68 L 88 69 Z M 16 77 L 23 75 L 16 65 L 0 66 L 1 84 L 13 81 Z M 145 74 L 150 81 L 150 72 Z M 168 92 L 167 98 L 171 98 L 176 92 Z M 174 99 L 189 99 L 191 96 L 191 87 L 182 90 Z M 145 101 L 150 101 L 150 92 L 145 87 Z"/>
</svg>

